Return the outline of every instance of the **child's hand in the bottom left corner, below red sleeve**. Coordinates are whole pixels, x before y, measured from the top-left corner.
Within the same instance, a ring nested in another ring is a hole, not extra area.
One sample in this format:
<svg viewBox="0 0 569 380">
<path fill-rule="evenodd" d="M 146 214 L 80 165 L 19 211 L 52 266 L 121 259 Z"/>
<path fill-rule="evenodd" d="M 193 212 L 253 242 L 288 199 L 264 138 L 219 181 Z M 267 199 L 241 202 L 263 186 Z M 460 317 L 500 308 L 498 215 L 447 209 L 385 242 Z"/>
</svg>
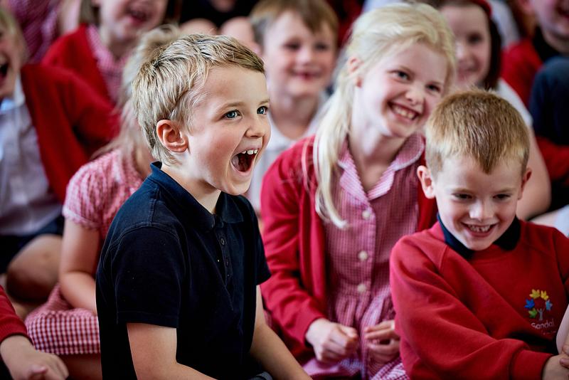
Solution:
<svg viewBox="0 0 569 380">
<path fill-rule="evenodd" d="M 69 375 L 59 357 L 37 351 L 22 335 L 4 339 L 0 352 L 15 380 L 63 380 Z"/>
</svg>

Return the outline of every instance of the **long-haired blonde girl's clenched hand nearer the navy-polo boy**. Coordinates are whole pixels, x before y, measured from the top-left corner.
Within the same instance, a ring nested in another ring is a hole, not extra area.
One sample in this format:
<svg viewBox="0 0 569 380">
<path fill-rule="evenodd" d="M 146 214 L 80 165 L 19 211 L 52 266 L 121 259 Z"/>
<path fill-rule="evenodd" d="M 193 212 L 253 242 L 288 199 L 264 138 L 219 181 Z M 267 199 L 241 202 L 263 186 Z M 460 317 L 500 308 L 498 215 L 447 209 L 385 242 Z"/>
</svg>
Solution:
<svg viewBox="0 0 569 380">
<path fill-rule="evenodd" d="M 324 318 L 312 322 L 306 339 L 312 344 L 316 358 L 324 363 L 337 363 L 351 356 L 358 347 L 356 329 Z"/>
</svg>

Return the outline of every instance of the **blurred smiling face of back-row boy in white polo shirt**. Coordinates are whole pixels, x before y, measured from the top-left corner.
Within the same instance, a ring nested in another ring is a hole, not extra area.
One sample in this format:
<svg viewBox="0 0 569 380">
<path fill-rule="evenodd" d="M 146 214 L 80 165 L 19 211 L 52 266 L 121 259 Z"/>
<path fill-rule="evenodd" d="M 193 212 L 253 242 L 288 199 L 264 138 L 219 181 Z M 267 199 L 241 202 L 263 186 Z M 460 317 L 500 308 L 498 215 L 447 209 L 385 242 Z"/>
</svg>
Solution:
<svg viewBox="0 0 569 380">
<path fill-rule="evenodd" d="M 336 63 L 336 38 L 322 23 L 312 33 L 300 16 L 287 11 L 267 28 L 262 47 L 271 93 L 317 97 L 330 83 Z"/>
</svg>

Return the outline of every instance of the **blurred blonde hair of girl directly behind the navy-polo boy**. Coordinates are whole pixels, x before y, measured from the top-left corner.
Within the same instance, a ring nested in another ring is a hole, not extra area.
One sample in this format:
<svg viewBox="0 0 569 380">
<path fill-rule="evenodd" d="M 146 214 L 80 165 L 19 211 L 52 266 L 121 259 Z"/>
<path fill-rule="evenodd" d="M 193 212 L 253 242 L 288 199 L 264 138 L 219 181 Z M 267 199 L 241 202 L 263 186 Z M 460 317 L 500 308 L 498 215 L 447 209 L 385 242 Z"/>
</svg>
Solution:
<svg viewBox="0 0 569 380">
<path fill-rule="evenodd" d="M 119 101 L 115 112 L 120 115 L 120 132 L 115 139 L 95 152 L 98 157 L 114 149 L 121 149 L 124 154 L 130 154 L 137 149 L 148 149 L 144 134 L 134 116 L 132 109 L 132 82 L 137 76 L 140 66 L 149 56 L 161 46 L 174 41 L 181 36 L 181 31 L 174 25 L 163 25 L 144 33 L 132 55 L 122 70 L 122 81 Z"/>
</svg>

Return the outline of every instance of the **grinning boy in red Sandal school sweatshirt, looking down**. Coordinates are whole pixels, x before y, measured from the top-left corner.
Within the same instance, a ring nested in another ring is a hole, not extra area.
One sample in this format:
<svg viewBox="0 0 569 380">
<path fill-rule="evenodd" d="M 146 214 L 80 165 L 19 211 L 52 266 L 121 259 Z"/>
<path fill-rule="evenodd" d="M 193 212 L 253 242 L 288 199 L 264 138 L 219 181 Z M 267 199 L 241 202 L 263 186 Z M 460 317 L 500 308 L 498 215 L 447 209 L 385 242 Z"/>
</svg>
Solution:
<svg viewBox="0 0 569 380">
<path fill-rule="evenodd" d="M 565 379 L 553 356 L 568 304 L 569 239 L 516 218 L 531 170 L 519 113 L 482 90 L 427 121 L 418 175 L 439 221 L 393 248 L 390 282 L 405 370 L 417 379 Z"/>
</svg>

